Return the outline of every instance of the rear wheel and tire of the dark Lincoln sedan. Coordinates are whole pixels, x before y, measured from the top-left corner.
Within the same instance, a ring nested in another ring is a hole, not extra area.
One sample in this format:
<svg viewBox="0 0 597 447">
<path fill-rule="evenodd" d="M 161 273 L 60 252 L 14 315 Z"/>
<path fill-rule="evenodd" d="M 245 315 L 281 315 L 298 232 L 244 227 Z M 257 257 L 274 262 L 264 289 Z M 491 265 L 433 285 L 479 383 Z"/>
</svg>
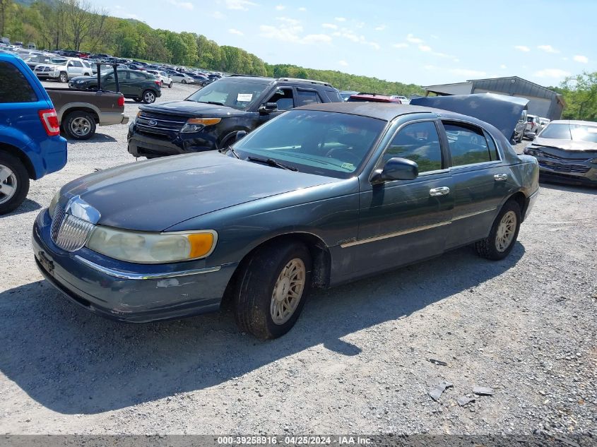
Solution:
<svg viewBox="0 0 597 447">
<path fill-rule="evenodd" d="M 520 222 L 520 205 L 514 200 L 504 203 L 500 213 L 495 217 L 489 236 L 475 242 L 477 254 L 492 261 L 500 261 L 508 256 L 516 244 Z"/>
</svg>

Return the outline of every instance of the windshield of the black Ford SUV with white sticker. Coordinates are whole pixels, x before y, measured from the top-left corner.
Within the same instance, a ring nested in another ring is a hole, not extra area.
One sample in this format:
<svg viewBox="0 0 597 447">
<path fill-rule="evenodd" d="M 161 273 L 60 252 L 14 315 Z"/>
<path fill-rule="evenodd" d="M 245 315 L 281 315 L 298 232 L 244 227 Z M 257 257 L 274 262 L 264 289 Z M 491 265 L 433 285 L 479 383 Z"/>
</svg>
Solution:
<svg viewBox="0 0 597 447">
<path fill-rule="evenodd" d="M 268 88 L 267 81 L 215 81 L 187 98 L 187 101 L 217 102 L 233 109 L 246 110 Z"/>
</svg>

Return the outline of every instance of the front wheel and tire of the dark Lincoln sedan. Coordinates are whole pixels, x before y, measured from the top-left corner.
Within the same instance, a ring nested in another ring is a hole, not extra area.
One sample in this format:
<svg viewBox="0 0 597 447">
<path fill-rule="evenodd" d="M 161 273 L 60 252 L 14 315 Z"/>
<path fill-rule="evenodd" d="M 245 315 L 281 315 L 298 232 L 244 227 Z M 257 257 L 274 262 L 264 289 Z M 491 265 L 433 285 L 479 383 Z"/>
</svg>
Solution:
<svg viewBox="0 0 597 447">
<path fill-rule="evenodd" d="M 290 242 L 257 249 L 237 275 L 233 298 L 237 326 L 261 340 L 284 335 L 299 318 L 310 285 L 311 256 L 305 245 Z M 290 290 L 297 297 L 292 299 Z"/>
</svg>

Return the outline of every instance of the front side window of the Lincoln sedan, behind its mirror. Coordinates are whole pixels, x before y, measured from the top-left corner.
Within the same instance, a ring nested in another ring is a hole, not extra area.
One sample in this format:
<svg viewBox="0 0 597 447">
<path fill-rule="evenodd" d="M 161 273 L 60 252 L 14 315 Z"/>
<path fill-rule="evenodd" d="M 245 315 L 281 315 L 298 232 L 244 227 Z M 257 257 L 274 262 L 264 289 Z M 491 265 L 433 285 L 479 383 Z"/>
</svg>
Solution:
<svg viewBox="0 0 597 447">
<path fill-rule="evenodd" d="M 435 124 L 422 121 L 404 126 L 384 153 L 384 162 L 393 157 L 417 163 L 420 173 L 442 169 L 442 146 Z"/>
</svg>

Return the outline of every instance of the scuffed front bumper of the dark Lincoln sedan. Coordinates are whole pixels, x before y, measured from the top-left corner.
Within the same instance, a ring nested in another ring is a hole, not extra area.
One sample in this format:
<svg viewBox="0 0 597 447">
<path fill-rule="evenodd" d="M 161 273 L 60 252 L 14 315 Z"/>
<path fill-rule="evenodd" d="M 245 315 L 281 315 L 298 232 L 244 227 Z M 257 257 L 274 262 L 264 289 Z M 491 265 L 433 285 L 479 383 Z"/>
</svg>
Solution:
<svg viewBox="0 0 597 447">
<path fill-rule="evenodd" d="M 217 311 L 237 266 L 206 267 L 203 260 L 189 270 L 189 263 L 175 268 L 122 263 L 85 248 L 69 253 L 52 242 L 51 223 L 44 209 L 33 225 L 37 268 L 71 301 L 119 321 L 146 323 Z M 160 274 L 160 268 L 170 270 Z"/>
</svg>

